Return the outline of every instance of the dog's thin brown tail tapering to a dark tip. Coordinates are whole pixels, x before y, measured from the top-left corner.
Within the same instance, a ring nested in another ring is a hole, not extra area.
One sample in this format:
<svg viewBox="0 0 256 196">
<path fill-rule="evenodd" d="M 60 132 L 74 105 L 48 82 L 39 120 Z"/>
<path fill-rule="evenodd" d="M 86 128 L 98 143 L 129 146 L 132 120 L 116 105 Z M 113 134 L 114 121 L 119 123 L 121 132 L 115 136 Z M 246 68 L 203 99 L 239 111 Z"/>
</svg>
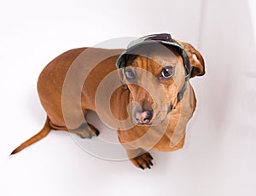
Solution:
<svg viewBox="0 0 256 196">
<path fill-rule="evenodd" d="M 27 141 L 24 141 L 22 144 L 20 144 L 19 147 L 16 147 L 15 150 L 10 153 L 10 155 L 13 155 L 15 153 L 19 153 L 24 148 L 32 145 L 33 143 L 43 139 L 45 136 L 49 134 L 49 131 L 51 130 L 51 127 L 49 125 L 49 117 L 46 118 L 46 122 L 44 124 L 44 127 L 42 130 L 39 131 L 37 135 L 32 136 L 32 138 L 28 139 Z"/>
</svg>

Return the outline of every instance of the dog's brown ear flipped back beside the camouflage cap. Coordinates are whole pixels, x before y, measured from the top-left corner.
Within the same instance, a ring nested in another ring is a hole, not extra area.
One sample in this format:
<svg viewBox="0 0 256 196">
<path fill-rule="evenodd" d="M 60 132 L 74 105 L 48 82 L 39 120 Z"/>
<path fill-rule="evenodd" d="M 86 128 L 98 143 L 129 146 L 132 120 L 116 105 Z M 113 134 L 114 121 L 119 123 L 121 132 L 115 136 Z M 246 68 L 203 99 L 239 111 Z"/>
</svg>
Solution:
<svg viewBox="0 0 256 196">
<path fill-rule="evenodd" d="M 183 46 L 187 55 L 189 56 L 190 65 L 192 66 L 190 78 L 194 78 L 195 76 L 203 76 L 206 73 L 205 61 L 200 52 L 189 43 L 183 43 L 180 41 L 177 42 Z"/>
</svg>

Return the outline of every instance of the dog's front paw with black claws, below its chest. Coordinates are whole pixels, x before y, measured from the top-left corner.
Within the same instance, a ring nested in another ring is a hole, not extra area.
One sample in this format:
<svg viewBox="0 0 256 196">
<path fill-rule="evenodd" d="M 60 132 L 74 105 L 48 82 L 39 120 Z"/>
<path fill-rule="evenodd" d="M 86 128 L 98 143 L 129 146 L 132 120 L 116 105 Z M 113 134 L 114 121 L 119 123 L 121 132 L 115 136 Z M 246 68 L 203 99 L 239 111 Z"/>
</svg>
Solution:
<svg viewBox="0 0 256 196">
<path fill-rule="evenodd" d="M 142 155 L 137 156 L 136 158 L 130 159 L 132 164 L 135 164 L 135 166 L 141 168 L 141 169 L 151 169 L 152 160 L 153 157 L 150 155 L 150 153 L 143 153 Z"/>
</svg>

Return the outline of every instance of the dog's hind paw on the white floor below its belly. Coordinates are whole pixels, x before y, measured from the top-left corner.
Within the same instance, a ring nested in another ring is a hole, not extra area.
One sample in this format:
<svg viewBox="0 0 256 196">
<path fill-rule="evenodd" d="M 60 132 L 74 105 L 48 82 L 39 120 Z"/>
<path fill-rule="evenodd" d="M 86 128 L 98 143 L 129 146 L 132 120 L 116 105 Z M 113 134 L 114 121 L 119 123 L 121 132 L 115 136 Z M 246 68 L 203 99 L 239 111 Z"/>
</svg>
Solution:
<svg viewBox="0 0 256 196">
<path fill-rule="evenodd" d="M 100 135 L 100 131 L 97 130 L 94 126 L 91 124 L 82 124 L 79 126 L 76 130 L 70 130 L 71 133 L 79 135 L 79 137 L 85 139 L 85 138 L 92 138 L 93 136 Z"/>
</svg>

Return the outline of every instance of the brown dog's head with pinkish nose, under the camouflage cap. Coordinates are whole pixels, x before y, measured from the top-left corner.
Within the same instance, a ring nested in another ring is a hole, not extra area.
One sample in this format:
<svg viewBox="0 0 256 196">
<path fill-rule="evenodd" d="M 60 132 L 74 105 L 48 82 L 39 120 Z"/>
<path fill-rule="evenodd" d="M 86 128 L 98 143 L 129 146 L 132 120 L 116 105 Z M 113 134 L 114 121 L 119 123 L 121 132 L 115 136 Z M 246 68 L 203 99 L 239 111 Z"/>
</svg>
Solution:
<svg viewBox="0 0 256 196">
<path fill-rule="evenodd" d="M 117 66 L 122 83 L 130 90 L 136 124 L 159 124 L 182 100 L 189 78 L 205 73 L 201 54 L 189 43 L 154 41 L 127 51 Z"/>
</svg>

